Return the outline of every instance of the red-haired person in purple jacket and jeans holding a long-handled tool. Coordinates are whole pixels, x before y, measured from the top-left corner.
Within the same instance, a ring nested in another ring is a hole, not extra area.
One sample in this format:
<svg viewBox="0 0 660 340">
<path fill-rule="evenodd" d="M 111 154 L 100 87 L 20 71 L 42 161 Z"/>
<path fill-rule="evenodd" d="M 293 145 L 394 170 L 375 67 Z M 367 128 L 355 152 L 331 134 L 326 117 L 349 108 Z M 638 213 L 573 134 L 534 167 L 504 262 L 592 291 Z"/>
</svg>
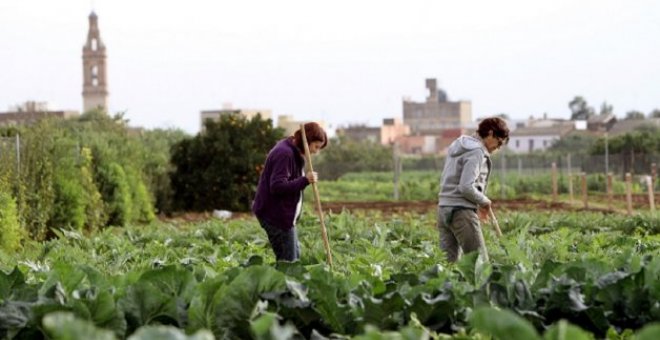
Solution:
<svg viewBox="0 0 660 340">
<path fill-rule="evenodd" d="M 328 144 L 328 137 L 317 123 L 305 124 L 310 154 Z M 300 258 L 296 222 L 302 211 L 302 193 L 318 179 L 316 172 L 305 173 L 305 149 L 300 129 L 270 150 L 259 177 L 252 212 L 268 234 L 277 261 Z"/>
</svg>

